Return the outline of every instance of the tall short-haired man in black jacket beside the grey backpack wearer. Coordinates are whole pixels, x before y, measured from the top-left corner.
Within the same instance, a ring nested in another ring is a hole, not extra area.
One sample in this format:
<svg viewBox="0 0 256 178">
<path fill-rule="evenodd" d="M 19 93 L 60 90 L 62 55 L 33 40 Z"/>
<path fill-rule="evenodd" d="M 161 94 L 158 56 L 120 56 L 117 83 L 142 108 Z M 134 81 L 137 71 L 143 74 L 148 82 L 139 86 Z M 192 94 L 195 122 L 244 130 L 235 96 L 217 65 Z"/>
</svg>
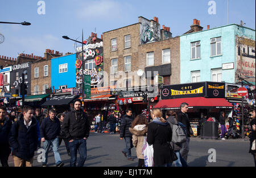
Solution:
<svg viewBox="0 0 256 178">
<path fill-rule="evenodd" d="M 189 143 L 190 143 L 190 135 L 193 134 L 189 119 L 188 119 L 188 104 L 183 102 L 180 104 L 180 113 L 177 114 L 177 120 L 178 122 L 183 123 L 187 128 L 187 141 L 182 144 L 182 151 L 181 151 L 181 157 L 187 162 L 188 159 L 188 152 L 189 152 Z"/>
</svg>

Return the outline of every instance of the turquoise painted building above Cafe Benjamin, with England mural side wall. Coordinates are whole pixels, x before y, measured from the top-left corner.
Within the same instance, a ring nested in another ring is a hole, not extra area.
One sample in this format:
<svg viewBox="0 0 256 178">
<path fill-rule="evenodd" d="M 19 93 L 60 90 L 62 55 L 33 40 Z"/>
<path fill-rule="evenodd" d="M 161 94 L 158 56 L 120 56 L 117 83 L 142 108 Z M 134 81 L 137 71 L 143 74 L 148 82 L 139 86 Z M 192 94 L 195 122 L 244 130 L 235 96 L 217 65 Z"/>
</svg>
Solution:
<svg viewBox="0 0 256 178">
<path fill-rule="evenodd" d="M 234 83 L 241 75 L 255 82 L 255 30 L 229 24 L 180 36 L 181 84 Z"/>
</svg>

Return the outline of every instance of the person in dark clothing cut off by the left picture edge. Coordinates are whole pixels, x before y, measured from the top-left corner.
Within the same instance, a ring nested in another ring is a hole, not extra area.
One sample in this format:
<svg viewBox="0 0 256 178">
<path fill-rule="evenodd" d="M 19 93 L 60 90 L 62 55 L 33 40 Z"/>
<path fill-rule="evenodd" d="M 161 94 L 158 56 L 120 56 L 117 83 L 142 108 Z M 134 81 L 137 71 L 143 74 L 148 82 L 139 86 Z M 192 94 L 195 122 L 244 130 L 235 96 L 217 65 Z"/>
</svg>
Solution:
<svg viewBox="0 0 256 178">
<path fill-rule="evenodd" d="M 9 145 L 9 133 L 11 130 L 11 120 L 6 116 L 6 107 L 0 106 L 0 160 L 2 167 L 9 167 L 8 158 L 11 153 Z"/>
</svg>

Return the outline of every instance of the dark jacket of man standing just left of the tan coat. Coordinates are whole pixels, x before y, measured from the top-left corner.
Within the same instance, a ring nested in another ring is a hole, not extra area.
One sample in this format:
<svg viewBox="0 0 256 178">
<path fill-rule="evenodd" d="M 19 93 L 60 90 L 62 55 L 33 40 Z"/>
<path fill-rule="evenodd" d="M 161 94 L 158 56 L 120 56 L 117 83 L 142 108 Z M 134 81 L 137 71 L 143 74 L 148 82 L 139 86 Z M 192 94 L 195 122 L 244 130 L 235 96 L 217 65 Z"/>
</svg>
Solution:
<svg viewBox="0 0 256 178">
<path fill-rule="evenodd" d="M 129 127 L 131 127 L 132 122 L 133 122 L 133 118 L 131 116 L 124 115 L 121 121 L 120 138 L 133 136 L 133 134 L 131 134 L 129 131 Z"/>
</svg>

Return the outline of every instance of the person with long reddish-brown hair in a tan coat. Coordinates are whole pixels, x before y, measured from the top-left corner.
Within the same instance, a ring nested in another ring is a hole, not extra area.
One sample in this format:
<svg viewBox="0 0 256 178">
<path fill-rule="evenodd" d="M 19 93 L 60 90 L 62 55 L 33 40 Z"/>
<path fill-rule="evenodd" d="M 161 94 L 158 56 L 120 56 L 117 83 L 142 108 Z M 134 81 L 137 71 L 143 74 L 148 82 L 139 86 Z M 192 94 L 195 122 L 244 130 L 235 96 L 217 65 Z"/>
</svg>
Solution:
<svg viewBox="0 0 256 178">
<path fill-rule="evenodd" d="M 144 167 L 144 156 L 142 155 L 143 140 L 147 134 L 147 118 L 144 114 L 139 114 L 131 123 L 129 131 L 133 134 L 133 146 L 135 147 L 137 158 L 139 160 L 138 167 Z"/>
</svg>

